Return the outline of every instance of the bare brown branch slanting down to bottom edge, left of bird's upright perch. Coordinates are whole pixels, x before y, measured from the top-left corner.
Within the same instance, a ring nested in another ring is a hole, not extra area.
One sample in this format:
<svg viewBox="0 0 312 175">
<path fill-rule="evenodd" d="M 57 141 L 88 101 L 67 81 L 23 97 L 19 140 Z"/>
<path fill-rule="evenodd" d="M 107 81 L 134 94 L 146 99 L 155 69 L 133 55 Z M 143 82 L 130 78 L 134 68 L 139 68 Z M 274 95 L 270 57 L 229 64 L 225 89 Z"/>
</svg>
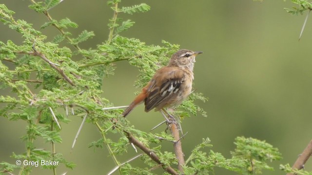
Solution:
<svg viewBox="0 0 312 175">
<path fill-rule="evenodd" d="M 133 143 L 136 145 L 140 150 L 142 150 L 147 156 L 151 157 L 152 160 L 154 160 L 156 163 L 162 166 L 164 170 L 166 170 L 171 175 L 178 175 L 178 173 L 170 166 L 165 166 L 163 163 L 160 162 L 159 157 L 148 147 L 146 147 L 142 142 L 137 140 L 133 135 L 131 135 L 129 132 L 124 131 L 126 134 L 126 137 L 130 141 L 130 143 Z"/>
</svg>

